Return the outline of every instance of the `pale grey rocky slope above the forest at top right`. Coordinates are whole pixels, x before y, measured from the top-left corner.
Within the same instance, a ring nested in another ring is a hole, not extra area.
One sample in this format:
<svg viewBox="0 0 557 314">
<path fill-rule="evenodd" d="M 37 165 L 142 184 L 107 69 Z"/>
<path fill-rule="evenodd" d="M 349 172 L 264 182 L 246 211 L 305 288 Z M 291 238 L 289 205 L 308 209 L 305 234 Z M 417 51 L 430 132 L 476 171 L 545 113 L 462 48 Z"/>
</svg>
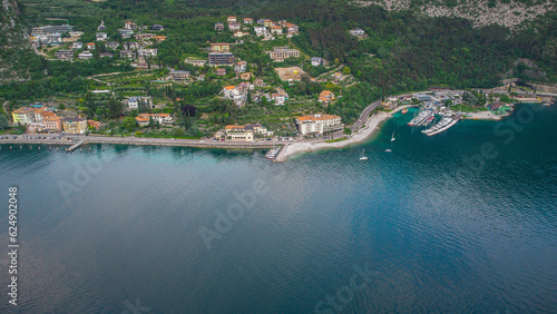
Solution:
<svg viewBox="0 0 557 314">
<path fill-rule="evenodd" d="M 453 4 L 450 4 L 452 3 Z M 457 4 L 458 3 L 458 4 Z M 515 29 L 524 21 L 534 20 L 536 17 L 557 9 L 553 0 L 535 1 L 531 4 L 508 0 L 497 2 L 494 0 L 461 0 L 444 3 L 440 1 L 422 1 L 420 4 L 413 0 L 370 0 L 353 1 L 353 6 L 381 6 L 389 11 L 412 9 L 429 17 L 455 17 L 471 20 L 475 27 L 500 24 Z"/>
</svg>

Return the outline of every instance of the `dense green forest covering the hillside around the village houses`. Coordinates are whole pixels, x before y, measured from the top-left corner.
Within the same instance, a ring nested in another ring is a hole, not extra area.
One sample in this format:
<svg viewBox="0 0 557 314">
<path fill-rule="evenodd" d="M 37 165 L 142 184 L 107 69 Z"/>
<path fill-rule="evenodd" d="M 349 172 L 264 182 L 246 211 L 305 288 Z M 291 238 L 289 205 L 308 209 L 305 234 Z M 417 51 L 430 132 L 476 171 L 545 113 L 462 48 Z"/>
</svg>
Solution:
<svg viewBox="0 0 557 314">
<path fill-rule="evenodd" d="M 451 1 L 444 2 L 452 6 Z M 94 38 L 101 20 L 115 39 L 118 39 L 117 29 L 126 20 L 145 26 L 164 24 L 163 33 L 168 40 L 157 45 L 156 63 L 187 70 L 195 68 L 184 63 L 185 57 L 206 58 L 201 48 L 207 47 L 207 42 L 233 41 L 229 35 L 214 31 L 216 21 L 224 21 L 227 16 L 285 19 L 300 26 L 300 36 L 292 38 L 292 43 L 303 55 L 338 59 L 361 81 L 343 90 L 344 97 L 326 108 L 346 121 L 355 119 L 364 106 L 381 97 L 430 86 L 491 88 L 508 77 L 546 84 L 557 81 L 555 10 L 511 31 L 500 26 L 473 28 L 470 21 L 459 18 L 428 18 L 412 9 L 394 12 L 378 6 L 354 7 L 344 0 L 21 0 L 19 4 L 20 19 L 26 26 L 51 23 L 51 18 L 67 19 L 75 29 L 86 32 L 86 39 Z M 58 6 L 65 9 L 52 10 Z M 351 36 L 348 30 L 353 28 L 365 30 L 368 38 L 359 40 Z M 257 65 L 257 73 L 272 69 L 261 46 L 245 43 L 235 49 L 233 52 Z M 38 98 L 56 92 L 85 95 L 88 76 L 133 70 L 126 63 L 102 59 L 47 62 L 30 50 L 17 48 L 4 49 L 0 55 L 2 59 L 13 59 L 17 71 L 29 78 L 25 82 L 2 85 L 0 97 L 4 99 Z M 532 77 L 522 65 L 515 66 L 519 58 L 534 61 L 543 75 Z M 218 87 L 205 89 L 213 92 Z M 315 88 L 313 92 L 322 89 Z M 306 87 L 299 88 L 297 94 L 304 95 L 306 90 Z M 196 97 L 197 92 L 193 88 L 182 94 Z M 199 95 L 208 97 L 205 92 Z"/>
</svg>

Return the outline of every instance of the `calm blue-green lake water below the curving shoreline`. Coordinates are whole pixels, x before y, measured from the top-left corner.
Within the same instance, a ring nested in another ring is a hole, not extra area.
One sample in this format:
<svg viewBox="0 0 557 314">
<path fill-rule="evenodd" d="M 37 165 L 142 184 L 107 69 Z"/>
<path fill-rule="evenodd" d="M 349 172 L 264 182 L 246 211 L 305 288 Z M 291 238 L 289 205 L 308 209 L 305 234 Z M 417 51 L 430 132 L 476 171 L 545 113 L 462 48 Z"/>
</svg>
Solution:
<svg viewBox="0 0 557 314">
<path fill-rule="evenodd" d="M 557 107 L 520 108 L 433 137 L 399 114 L 367 161 L 2 145 L 21 272 L 0 312 L 556 312 Z"/>
</svg>

